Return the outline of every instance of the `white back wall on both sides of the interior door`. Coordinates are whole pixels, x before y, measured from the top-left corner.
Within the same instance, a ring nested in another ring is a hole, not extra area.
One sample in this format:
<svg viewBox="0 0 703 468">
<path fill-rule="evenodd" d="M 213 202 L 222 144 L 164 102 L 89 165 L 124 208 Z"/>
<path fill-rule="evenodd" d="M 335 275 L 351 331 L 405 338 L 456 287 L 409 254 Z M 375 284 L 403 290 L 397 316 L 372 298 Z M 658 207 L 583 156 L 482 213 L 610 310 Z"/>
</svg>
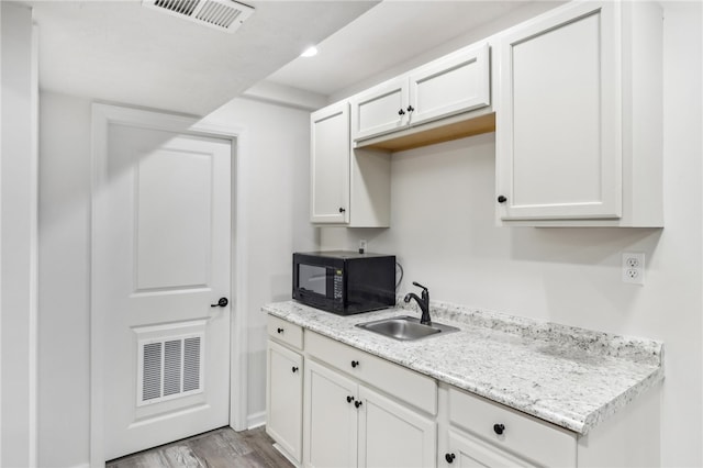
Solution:
<svg viewBox="0 0 703 468">
<path fill-rule="evenodd" d="M 237 235 L 247 249 L 248 403 L 265 410 L 261 304 L 290 297 L 290 255 L 311 248 L 309 114 L 234 100 L 207 121 L 242 130 Z M 43 92 L 40 151 L 40 466 L 89 459 L 90 101 Z"/>
</svg>

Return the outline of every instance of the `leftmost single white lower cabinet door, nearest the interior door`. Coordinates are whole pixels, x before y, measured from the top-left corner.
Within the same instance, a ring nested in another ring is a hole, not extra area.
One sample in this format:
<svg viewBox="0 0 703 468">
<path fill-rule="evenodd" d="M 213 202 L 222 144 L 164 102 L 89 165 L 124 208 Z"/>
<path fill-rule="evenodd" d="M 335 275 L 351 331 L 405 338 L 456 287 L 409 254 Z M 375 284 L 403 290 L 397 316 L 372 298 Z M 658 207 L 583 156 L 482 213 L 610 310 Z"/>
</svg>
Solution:
<svg viewBox="0 0 703 468">
<path fill-rule="evenodd" d="M 288 455 L 302 456 L 303 358 L 277 343 L 268 342 L 266 432 Z"/>
</svg>

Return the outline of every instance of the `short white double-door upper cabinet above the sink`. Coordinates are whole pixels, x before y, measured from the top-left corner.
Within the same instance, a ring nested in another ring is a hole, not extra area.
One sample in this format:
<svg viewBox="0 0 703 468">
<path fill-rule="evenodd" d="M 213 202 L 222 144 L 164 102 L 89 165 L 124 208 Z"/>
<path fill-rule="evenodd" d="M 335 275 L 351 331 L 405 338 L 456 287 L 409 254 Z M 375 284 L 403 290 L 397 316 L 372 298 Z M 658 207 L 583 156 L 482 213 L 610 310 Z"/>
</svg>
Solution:
<svg viewBox="0 0 703 468">
<path fill-rule="evenodd" d="M 488 43 L 446 55 L 354 96 L 352 140 L 408 130 L 490 105 Z"/>
</svg>

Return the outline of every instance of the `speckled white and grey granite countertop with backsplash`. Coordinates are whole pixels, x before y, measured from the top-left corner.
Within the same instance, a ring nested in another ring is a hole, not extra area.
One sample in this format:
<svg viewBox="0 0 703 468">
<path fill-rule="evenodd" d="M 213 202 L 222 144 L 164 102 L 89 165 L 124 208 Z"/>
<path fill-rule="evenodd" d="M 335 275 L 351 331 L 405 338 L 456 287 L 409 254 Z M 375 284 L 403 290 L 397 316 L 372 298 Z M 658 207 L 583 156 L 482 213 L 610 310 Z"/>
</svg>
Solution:
<svg viewBox="0 0 703 468">
<path fill-rule="evenodd" d="M 394 315 L 420 316 L 405 304 L 348 316 L 293 301 L 261 310 L 579 434 L 663 379 L 660 342 L 443 302 L 432 302 L 432 320 L 460 332 L 414 342 L 354 326 Z"/>
</svg>

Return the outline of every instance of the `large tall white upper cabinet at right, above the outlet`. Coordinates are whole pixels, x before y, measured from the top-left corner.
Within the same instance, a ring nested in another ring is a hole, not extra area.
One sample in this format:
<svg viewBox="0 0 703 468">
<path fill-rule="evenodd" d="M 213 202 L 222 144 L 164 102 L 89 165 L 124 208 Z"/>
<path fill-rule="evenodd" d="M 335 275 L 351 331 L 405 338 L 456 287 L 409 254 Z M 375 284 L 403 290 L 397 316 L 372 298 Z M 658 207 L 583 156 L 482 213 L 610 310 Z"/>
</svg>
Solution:
<svg viewBox="0 0 703 468">
<path fill-rule="evenodd" d="M 504 224 L 660 226 L 661 11 L 570 3 L 500 38 Z"/>
</svg>

